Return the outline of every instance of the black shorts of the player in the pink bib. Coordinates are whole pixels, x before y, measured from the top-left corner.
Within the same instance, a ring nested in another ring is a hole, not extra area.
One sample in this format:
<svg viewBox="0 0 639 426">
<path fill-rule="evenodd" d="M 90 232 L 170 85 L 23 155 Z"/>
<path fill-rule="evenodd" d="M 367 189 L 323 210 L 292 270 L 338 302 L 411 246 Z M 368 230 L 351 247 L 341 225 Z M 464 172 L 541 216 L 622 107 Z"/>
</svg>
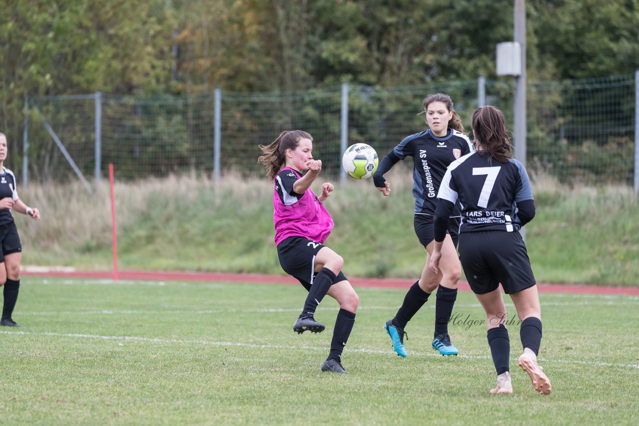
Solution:
<svg viewBox="0 0 639 426">
<path fill-rule="evenodd" d="M 315 272 L 315 257 L 323 248 L 322 243 L 308 240 L 304 237 L 289 237 L 277 245 L 277 257 L 284 272 L 288 273 L 304 285 L 307 291 L 317 273 Z M 346 281 L 342 271 L 339 271 L 332 284 Z"/>
</svg>

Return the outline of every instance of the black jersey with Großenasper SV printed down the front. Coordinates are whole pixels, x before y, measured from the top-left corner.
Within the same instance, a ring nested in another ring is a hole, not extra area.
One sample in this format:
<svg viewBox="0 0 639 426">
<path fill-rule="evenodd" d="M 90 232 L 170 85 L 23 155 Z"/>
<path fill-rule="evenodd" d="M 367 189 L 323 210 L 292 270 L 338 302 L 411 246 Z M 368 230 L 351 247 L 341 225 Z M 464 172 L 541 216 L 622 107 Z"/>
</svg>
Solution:
<svg viewBox="0 0 639 426">
<path fill-rule="evenodd" d="M 433 135 L 430 129 L 404 138 L 393 152 L 400 159 L 413 157 L 413 197 L 415 213 L 435 215 L 437 191 L 447 167 L 457 158 L 475 150 L 470 139 L 461 132 L 448 129 L 445 137 Z"/>
</svg>

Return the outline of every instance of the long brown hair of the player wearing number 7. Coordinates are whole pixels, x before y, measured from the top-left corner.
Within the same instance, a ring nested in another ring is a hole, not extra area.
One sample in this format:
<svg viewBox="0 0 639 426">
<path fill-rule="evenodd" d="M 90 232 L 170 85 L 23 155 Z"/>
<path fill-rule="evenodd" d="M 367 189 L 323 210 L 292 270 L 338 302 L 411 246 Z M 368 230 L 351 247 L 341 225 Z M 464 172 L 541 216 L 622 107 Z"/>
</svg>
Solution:
<svg viewBox="0 0 639 426">
<path fill-rule="evenodd" d="M 491 105 L 477 108 L 473 112 L 472 127 L 477 148 L 486 149 L 488 155 L 500 163 L 512 158 L 511 139 L 500 109 Z"/>
</svg>

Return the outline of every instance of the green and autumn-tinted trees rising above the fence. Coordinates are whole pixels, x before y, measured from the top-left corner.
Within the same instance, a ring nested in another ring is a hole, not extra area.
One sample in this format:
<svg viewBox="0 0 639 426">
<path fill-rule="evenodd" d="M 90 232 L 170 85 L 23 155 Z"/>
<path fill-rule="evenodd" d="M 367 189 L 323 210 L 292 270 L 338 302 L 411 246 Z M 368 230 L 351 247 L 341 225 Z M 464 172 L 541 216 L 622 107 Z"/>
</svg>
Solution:
<svg viewBox="0 0 639 426">
<path fill-rule="evenodd" d="M 495 45 L 512 40 L 512 8 L 512 0 L 5 0 L 0 131 L 15 167 L 26 95 L 496 79 Z M 530 81 L 639 68 L 639 0 L 528 0 L 527 24 Z"/>
</svg>

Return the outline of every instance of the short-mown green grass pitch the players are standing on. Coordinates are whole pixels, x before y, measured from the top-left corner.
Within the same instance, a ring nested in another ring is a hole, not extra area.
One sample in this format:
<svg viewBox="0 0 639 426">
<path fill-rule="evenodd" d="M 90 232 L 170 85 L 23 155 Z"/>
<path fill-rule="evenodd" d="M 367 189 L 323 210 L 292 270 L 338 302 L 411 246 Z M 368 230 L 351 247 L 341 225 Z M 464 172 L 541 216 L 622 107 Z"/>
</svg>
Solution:
<svg viewBox="0 0 639 426">
<path fill-rule="evenodd" d="M 0 423 L 42 424 L 637 424 L 639 297 L 541 294 L 539 395 L 516 364 L 514 393 L 490 395 L 495 372 L 475 296 L 460 292 L 449 330 L 460 356 L 430 348 L 434 303 L 408 324 L 408 358 L 383 323 L 404 290 L 357 288 L 343 354 L 321 372 L 337 303 L 319 334 L 292 324 L 304 289 L 288 284 L 23 278 L 1 328 Z M 408 284 L 407 284 L 408 285 Z M 514 317 L 514 308 L 507 298 Z"/>
</svg>

